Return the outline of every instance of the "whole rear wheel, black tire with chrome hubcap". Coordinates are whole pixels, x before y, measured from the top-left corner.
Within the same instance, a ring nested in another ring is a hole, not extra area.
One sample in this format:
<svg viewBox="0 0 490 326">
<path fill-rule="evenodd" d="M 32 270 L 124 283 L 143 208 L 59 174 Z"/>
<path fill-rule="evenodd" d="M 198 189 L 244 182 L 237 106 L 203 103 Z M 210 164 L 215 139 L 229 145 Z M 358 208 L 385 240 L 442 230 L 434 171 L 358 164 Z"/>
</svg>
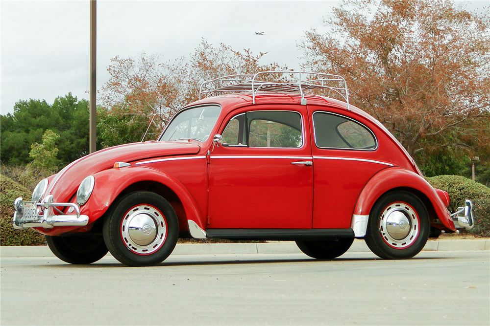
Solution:
<svg viewBox="0 0 490 326">
<path fill-rule="evenodd" d="M 412 193 L 394 191 L 371 209 L 365 240 L 383 259 L 407 259 L 423 249 L 429 230 L 429 214 L 422 201 Z"/>
</svg>

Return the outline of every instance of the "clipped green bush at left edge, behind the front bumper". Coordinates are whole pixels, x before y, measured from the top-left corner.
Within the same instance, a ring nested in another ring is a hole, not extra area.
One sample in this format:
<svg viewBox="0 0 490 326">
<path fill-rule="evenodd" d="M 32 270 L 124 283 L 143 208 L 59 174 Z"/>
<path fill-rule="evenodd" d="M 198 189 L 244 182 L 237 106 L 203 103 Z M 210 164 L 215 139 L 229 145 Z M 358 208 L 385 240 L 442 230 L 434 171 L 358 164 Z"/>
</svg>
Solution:
<svg viewBox="0 0 490 326">
<path fill-rule="evenodd" d="M 14 216 L 14 200 L 23 197 L 27 200 L 32 193 L 14 180 L 0 174 L 0 245 L 2 246 L 30 246 L 46 244 L 44 235 L 32 229 L 16 230 L 12 226 Z"/>
</svg>

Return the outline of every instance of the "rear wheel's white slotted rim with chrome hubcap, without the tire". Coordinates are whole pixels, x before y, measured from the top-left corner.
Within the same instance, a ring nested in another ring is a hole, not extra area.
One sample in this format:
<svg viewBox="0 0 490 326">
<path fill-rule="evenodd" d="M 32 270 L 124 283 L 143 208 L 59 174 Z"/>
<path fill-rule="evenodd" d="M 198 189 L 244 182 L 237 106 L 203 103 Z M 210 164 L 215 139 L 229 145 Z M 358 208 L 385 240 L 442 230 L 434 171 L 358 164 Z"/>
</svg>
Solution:
<svg viewBox="0 0 490 326">
<path fill-rule="evenodd" d="M 415 209 L 404 202 L 388 205 L 379 219 L 379 232 L 392 248 L 404 249 L 417 240 L 420 220 Z"/>
</svg>

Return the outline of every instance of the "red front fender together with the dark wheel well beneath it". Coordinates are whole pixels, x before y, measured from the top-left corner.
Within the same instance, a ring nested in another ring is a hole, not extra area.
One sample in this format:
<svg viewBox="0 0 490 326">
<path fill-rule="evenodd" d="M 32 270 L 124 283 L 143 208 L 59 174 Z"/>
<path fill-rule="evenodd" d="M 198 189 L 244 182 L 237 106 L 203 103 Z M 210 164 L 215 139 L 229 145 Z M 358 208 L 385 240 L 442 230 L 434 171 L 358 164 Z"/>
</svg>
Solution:
<svg viewBox="0 0 490 326">
<path fill-rule="evenodd" d="M 205 228 L 196 201 L 187 188 L 172 175 L 148 167 L 124 167 L 94 174 L 94 191 L 80 209 L 89 223 L 99 224 L 109 207 L 127 193 L 145 190 L 164 197 L 172 205 L 179 221 L 179 232 L 188 233 L 188 219 Z"/>
</svg>

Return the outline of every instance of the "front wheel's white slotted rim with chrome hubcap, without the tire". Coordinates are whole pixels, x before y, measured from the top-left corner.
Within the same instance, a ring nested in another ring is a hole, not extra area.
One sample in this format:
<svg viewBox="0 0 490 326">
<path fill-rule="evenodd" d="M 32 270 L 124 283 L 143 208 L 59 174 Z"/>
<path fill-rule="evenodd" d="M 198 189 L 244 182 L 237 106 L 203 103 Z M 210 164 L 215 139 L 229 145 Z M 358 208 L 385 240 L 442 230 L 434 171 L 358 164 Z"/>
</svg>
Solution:
<svg viewBox="0 0 490 326">
<path fill-rule="evenodd" d="M 121 238 L 128 250 L 149 255 L 162 247 L 167 238 L 167 221 L 162 212 L 149 204 L 131 207 L 121 221 Z"/>
</svg>

